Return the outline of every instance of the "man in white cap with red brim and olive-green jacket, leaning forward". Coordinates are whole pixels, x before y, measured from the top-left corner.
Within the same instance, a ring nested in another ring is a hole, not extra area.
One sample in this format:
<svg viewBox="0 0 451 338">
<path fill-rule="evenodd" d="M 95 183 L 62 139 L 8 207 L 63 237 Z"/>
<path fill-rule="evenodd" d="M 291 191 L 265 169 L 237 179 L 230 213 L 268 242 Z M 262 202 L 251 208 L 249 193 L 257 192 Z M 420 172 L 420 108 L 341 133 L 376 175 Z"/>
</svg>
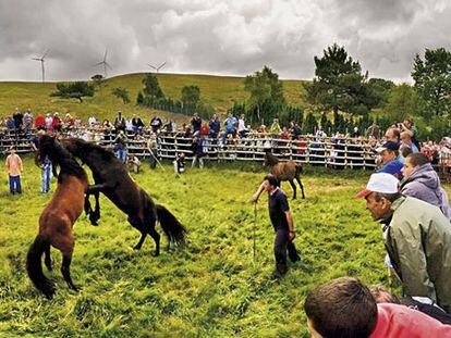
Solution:
<svg viewBox="0 0 451 338">
<path fill-rule="evenodd" d="M 366 189 L 373 220 L 382 224 L 390 262 L 411 297 L 427 297 L 451 311 L 451 226 L 436 206 L 399 192 L 390 174 L 373 174 Z"/>
</svg>

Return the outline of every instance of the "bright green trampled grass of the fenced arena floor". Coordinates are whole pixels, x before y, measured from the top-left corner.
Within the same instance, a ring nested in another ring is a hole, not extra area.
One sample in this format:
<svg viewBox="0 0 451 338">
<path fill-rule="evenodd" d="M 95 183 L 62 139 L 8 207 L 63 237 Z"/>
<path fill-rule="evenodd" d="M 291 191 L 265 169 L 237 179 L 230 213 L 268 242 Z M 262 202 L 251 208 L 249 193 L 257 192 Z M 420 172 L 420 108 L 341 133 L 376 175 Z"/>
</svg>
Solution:
<svg viewBox="0 0 451 338">
<path fill-rule="evenodd" d="M 358 276 L 387 285 L 380 228 L 364 202 L 354 199 L 369 173 L 307 167 L 307 198 L 291 202 L 302 261 L 277 281 L 266 196 L 258 204 L 253 260 L 249 199 L 261 168 L 224 164 L 175 178 L 164 166 L 166 173 L 145 168 L 134 178 L 186 225 L 188 247 L 154 258 L 148 238 L 142 251 L 133 251 L 139 234 L 102 198 L 98 227 L 84 215 L 75 224 L 72 276 L 83 289 L 68 289 L 59 272 L 61 256 L 52 250 L 54 270 L 45 270 L 57 281 L 51 301 L 35 290 L 25 272 L 25 255 L 50 196 L 39 193 L 39 170 L 29 158 L 22 196 L 9 195 L 3 176 L 0 336 L 303 337 L 303 302 L 318 284 Z M 288 185 L 282 188 L 291 196 Z"/>
</svg>

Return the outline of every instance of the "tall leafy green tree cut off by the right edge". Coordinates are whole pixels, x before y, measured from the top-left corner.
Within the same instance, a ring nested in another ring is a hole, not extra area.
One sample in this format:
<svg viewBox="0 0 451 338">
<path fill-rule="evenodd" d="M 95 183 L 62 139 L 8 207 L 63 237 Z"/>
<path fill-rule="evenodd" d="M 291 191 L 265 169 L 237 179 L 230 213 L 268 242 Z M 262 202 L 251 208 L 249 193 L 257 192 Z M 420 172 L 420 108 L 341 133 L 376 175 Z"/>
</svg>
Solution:
<svg viewBox="0 0 451 338">
<path fill-rule="evenodd" d="M 444 48 L 426 49 L 424 61 L 416 54 L 412 77 L 427 112 L 432 112 L 436 116 L 450 113 L 451 52 Z"/>
</svg>

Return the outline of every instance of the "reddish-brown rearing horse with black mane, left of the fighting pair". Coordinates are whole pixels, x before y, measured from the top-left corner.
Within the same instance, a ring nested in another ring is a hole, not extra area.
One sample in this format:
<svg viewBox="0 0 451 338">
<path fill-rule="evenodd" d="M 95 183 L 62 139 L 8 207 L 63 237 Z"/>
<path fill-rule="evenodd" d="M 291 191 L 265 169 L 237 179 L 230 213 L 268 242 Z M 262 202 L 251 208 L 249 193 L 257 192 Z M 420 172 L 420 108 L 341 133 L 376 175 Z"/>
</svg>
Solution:
<svg viewBox="0 0 451 338">
<path fill-rule="evenodd" d="M 44 275 L 41 267 L 41 256 L 45 253 L 45 264 L 51 270 L 50 246 L 62 253 L 61 273 L 64 280 L 71 289 L 78 289 L 72 281 L 70 271 L 75 245 L 72 228 L 83 212 L 88 179 L 75 158 L 54 137 L 41 136 L 38 157 L 41 160 L 48 157 L 53 167 L 60 167 L 60 173 L 57 190 L 40 214 L 39 231 L 28 250 L 26 270 L 36 288 L 51 299 L 54 283 Z"/>
</svg>

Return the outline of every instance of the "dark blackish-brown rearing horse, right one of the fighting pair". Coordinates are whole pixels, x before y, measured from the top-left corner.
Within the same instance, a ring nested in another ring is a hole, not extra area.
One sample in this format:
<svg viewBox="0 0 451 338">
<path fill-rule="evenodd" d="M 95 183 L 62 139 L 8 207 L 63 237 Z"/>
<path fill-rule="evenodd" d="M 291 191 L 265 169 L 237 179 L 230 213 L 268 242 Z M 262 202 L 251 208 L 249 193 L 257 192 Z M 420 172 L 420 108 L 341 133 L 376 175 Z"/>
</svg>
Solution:
<svg viewBox="0 0 451 338">
<path fill-rule="evenodd" d="M 155 229 L 157 220 L 168 237 L 168 250 L 171 242 L 186 242 L 185 227 L 164 206 L 155 204 L 150 196 L 130 177 L 125 165 L 114 154 L 80 138 L 62 140 L 64 147 L 81 159 L 93 172 L 95 185 L 86 195 L 85 211 L 94 225 L 100 218 L 99 192 L 103 192 L 120 210 L 129 215 L 130 224 L 141 231 L 142 236 L 134 249 L 139 250 L 146 235 L 155 240 L 155 255 L 160 254 L 160 235 Z M 90 210 L 89 195 L 96 198 L 96 208 Z"/>
</svg>

